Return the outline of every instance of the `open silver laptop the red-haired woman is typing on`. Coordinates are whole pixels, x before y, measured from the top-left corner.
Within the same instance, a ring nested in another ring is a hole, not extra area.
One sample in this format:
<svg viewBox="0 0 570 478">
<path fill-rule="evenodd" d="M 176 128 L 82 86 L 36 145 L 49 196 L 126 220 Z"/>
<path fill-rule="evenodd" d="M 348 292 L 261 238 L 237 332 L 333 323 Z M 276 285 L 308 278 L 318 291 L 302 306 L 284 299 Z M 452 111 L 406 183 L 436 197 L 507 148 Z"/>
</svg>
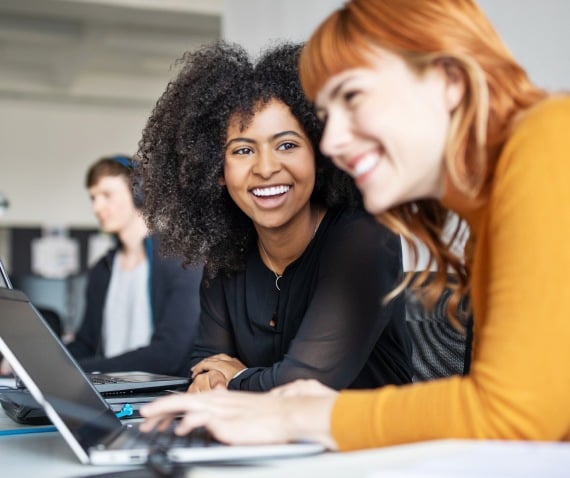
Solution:
<svg viewBox="0 0 570 478">
<path fill-rule="evenodd" d="M 123 424 L 26 295 L 0 288 L 0 352 L 82 463 L 144 464 L 236 461 L 316 454 L 320 444 L 223 445 L 204 430 L 187 437 L 141 434 Z"/>
</svg>

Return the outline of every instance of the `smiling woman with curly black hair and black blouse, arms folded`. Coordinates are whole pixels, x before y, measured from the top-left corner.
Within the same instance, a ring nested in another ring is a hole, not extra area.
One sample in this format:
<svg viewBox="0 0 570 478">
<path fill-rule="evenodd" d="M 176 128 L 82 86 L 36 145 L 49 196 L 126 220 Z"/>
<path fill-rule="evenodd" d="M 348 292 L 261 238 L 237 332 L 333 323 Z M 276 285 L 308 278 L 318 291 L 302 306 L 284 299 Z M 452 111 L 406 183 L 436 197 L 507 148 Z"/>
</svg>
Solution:
<svg viewBox="0 0 570 478">
<path fill-rule="evenodd" d="M 380 300 L 401 279 L 400 239 L 319 153 L 299 53 L 188 53 L 143 133 L 147 222 L 206 264 L 190 391 L 412 378 L 403 300 Z"/>
</svg>

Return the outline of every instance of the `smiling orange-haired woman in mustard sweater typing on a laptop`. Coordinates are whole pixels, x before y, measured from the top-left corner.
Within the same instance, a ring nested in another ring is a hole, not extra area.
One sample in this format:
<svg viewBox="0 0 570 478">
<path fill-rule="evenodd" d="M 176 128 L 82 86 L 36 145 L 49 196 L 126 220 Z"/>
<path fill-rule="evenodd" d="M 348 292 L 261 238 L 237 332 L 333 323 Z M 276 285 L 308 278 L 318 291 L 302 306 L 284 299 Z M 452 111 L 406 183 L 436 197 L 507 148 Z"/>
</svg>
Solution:
<svg viewBox="0 0 570 478">
<path fill-rule="evenodd" d="M 427 245 L 441 276 L 420 277 L 423 297 L 450 269 L 456 298 L 470 294 L 471 370 L 373 391 L 298 381 L 269 395 L 172 397 L 143 411 L 145 426 L 179 411 L 178 433 L 206 425 L 230 443 L 340 450 L 569 440 L 570 98 L 534 86 L 471 0 L 350 1 L 313 34 L 300 71 L 323 152 L 379 221 Z M 469 225 L 461 255 L 442 234 L 450 213 Z"/>
</svg>

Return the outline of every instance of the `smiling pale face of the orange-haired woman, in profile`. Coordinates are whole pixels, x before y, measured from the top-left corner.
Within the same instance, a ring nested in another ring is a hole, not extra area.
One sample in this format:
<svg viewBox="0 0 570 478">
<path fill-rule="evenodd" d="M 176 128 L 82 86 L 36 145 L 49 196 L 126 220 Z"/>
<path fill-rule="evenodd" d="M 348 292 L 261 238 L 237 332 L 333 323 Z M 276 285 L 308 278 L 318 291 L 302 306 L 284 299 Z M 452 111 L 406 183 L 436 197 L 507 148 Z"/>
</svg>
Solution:
<svg viewBox="0 0 570 478">
<path fill-rule="evenodd" d="M 439 199 L 450 114 L 462 94 L 462 82 L 442 64 L 418 74 L 375 48 L 370 67 L 340 72 L 318 92 L 321 149 L 354 178 L 372 214 Z"/>
</svg>

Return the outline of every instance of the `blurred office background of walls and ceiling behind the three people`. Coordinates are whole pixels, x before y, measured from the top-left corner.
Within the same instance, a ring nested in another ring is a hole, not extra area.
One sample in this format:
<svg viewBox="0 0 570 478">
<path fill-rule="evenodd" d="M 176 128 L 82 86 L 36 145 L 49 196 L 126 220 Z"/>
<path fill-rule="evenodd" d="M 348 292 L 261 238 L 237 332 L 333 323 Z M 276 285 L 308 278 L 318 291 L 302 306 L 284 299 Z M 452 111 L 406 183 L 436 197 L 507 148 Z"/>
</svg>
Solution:
<svg viewBox="0 0 570 478">
<path fill-rule="evenodd" d="M 80 181 L 90 161 L 136 151 L 184 51 L 303 40 L 341 3 L 0 0 L 0 256 L 14 282 L 76 327 L 85 271 L 105 249 Z M 570 2 L 479 4 L 534 81 L 569 89 Z"/>
</svg>

